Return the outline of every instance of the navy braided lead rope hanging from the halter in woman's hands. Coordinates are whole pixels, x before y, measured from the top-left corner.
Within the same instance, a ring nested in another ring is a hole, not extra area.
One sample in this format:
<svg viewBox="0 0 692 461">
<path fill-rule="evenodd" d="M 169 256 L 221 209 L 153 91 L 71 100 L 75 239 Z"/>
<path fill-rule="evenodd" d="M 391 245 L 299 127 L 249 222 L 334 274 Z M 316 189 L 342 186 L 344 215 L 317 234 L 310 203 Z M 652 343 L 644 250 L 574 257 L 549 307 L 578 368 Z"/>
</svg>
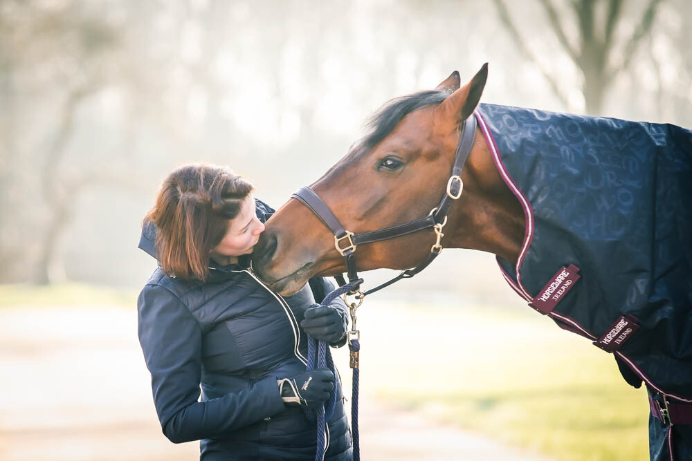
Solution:
<svg viewBox="0 0 692 461">
<path fill-rule="evenodd" d="M 343 287 L 339 287 L 333 292 L 327 294 L 325 296 L 325 299 L 322 299 L 322 304 L 321 305 L 329 305 L 331 301 L 334 301 L 336 297 L 339 297 L 341 295 L 345 295 L 349 292 L 352 292 L 352 290 L 355 289 L 355 287 L 359 284 L 360 282 L 358 281 L 357 283 L 347 283 L 346 285 L 343 285 Z M 362 302 L 362 300 L 361 300 Z M 360 305 L 360 303 L 358 303 Z M 320 306 L 318 303 L 312 304 L 310 307 L 311 308 L 316 308 Z M 357 306 L 356 306 L 357 307 Z M 351 331 L 348 332 L 348 337 L 349 337 L 349 349 L 352 351 L 351 352 L 351 363 L 353 364 L 354 360 L 354 352 L 351 346 L 351 341 L 354 341 L 355 344 L 357 345 L 356 347 L 360 348 L 360 345 L 358 345 L 358 339 L 351 340 L 351 335 L 353 332 L 356 332 L 358 334 L 358 337 L 360 336 L 360 333 L 358 333 L 358 330 L 355 330 L 355 323 L 356 323 L 356 317 L 355 317 L 355 309 L 354 307 L 349 308 L 351 310 L 351 318 L 353 319 L 353 326 L 351 328 Z M 329 346 L 325 341 L 317 341 L 315 338 L 311 337 L 308 335 L 307 337 L 307 366 L 306 369 L 309 370 L 314 370 L 315 368 L 329 368 L 331 370 L 331 373 L 334 373 L 334 379 L 336 380 L 337 372 L 336 372 L 336 367 L 334 366 L 334 360 L 331 358 L 331 352 L 329 351 Z M 355 352 L 355 357 L 356 357 L 356 368 L 351 366 L 351 368 L 354 368 L 354 387 L 353 387 L 353 401 L 352 401 L 352 406 L 351 406 L 351 415 L 352 419 L 354 419 L 353 426 L 354 426 L 354 460 L 359 460 L 360 455 L 358 454 L 357 451 L 357 446 L 358 446 L 358 367 L 357 367 L 357 362 L 358 362 L 358 352 Z M 336 383 L 334 386 L 334 390 L 331 391 L 331 395 L 329 395 L 329 400 L 327 401 L 327 405 L 325 406 L 324 404 L 320 405 L 318 408 L 304 408 L 305 414 L 309 418 L 309 420 L 313 421 L 316 420 L 317 422 L 317 450 L 315 453 L 315 461 L 322 461 L 325 459 L 325 452 L 327 451 L 327 439 L 325 438 L 325 426 L 326 422 L 329 421 L 329 418 L 331 418 L 331 415 L 334 414 L 334 407 L 336 406 Z M 355 416 L 354 416 L 355 415 Z"/>
</svg>

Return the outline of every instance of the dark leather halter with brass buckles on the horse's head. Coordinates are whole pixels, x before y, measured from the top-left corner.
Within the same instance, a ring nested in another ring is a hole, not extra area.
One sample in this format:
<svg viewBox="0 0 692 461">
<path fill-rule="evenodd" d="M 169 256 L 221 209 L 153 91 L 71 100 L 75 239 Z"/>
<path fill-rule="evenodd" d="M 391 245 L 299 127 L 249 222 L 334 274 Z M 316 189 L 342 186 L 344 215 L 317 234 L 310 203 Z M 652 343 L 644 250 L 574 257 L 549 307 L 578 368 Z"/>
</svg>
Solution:
<svg viewBox="0 0 692 461">
<path fill-rule="evenodd" d="M 442 227 L 444 227 L 444 225 L 447 223 L 447 212 L 452 206 L 452 203 L 454 200 L 457 200 L 457 198 L 462 196 L 462 189 L 464 188 L 464 183 L 462 182 L 462 168 L 464 168 L 464 163 L 466 162 L 466 159 L 473 148 L 475 128 L 475 115 L 471 115 L 464 121 L 462 126 L 462 135 L 459 137 L 459 144 L 457 144 L 452 174 L 447 180 L 445 194 L 442 196 L 439 205 L 433 208 L 430 211 L 430 214 L 424 218 L 419 218 L 404 224 L 385 227 L 385 229 L 354 234 L 353 232 L 347 231 L 345 227 L 341 225 L 327 204 L 324 203 L 310 187 L 301 187 L 291 194 L 292 198 L 299 200 L 300 203 L 308 207 L 310 211 L 320 218 L 325 226 L 329 227 L 331 233 L 334 234 L 334 246 L 336 247 L 336 251 L 338 251 L 339 254 L 346 259 L 349 283 L 355 282 L 354 290 L 358 290 L 357 292 L 359 293 L 356 295 L 356 297 L 358 297 L 361 301 L 363 301 L 363 297 L 365 297 L 367 294 L 381 290 L 382 288 L 392 285 L 392 283 L 401 279 L 410 279 L 410 277 L 418 274 L 421 272 L 421 270 L 428 267 L 428 265 L 432 263 L 432 260 L 437 258 L 437 255 L 439 255 L 442 251 L 441 238 L 444 236 L 444 234 L 442 234 Z M 413 267 L 412 269 L 404 270 L 401 272 L 401 274 L 394 277 L 394 279 L 386 281 L 385 283 L 372 288 L 372 290 L 367 290 L 365 293 L 360 293 L 358 286 L 363 283 L 363 279 L 359 279 L 358 273 L 356 272 L 355 253 L 358 245 L 379 242 L 388 240 L 390 238 L 404 236 L 406 234 L 412 234 L 413 232 L 428 229 L 428 227 L 432 227 L 432 229 L 435 230 L 436 241 L 435 245 L 432 245 L 430 248 L 430 254 L 428 254 L 422 263 L 416 267 Z M 337 281 L 340 283 L 340 285 L 345 285 L 346 283 L 342 275 L 337 277 Z"/>
</svg>

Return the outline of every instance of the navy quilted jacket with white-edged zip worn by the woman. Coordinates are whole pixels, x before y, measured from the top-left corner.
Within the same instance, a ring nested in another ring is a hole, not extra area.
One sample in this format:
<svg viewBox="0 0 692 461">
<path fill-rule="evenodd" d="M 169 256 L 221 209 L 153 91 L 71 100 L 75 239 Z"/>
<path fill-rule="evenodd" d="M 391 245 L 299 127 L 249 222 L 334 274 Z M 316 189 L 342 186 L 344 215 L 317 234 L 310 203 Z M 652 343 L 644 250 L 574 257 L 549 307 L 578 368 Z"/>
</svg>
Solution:
<svg viewBox="0 0 692 461">
<path fill-rule="evenodd" d="M 261 220 L 272 212 L 257 200 Z M 154 257 L 155 232 L 145 227 L 140 241 Z M 313 459 L 315 424 L 299 406 L 284 404 L 276 380 L 305 370 L 300 321 L 315 296 L 331 289 L 326 279 L 313 279 L 282 298 L 242 263 L 212 264 L 206 283 L 171 278 L 158 267 L 138 299 L 138 332 L 166 437 L 201 440 L 201 460 Z M 336 307 L 346 322 L 345 305 Z M 341 397 L 338 377 L 336 392 Z M 350 460 L 342 398 L 327 433 L 325 459 Z"/>
</svg>

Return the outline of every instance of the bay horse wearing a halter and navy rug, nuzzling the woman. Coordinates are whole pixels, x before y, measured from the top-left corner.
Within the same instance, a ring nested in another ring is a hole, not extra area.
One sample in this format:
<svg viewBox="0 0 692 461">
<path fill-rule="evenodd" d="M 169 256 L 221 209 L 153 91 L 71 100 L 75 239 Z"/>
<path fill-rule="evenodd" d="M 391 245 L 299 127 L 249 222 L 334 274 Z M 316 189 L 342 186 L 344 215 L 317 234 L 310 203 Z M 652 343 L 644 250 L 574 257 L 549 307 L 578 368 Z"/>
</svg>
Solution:
<svg viewBox="0 0 692 461">
<path fill-rule="evenodd" d="M 692 459 L 692 131 L 482 104 L 487 76 L 385 104 L 268 220 L 253 270 L 289 295 L 316 275 L 412 276 L 443 246 L 495 254 L 531 308 L 646 384 L 651 458 Z"/>
</svg>

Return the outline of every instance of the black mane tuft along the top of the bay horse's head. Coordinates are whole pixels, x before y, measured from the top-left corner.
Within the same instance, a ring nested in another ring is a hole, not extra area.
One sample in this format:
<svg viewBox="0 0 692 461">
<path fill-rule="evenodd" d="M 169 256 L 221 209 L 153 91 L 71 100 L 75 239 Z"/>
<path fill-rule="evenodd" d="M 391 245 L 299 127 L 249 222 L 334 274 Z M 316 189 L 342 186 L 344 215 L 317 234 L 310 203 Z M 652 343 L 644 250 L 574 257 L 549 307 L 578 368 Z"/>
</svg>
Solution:
<svg viewBox="0 0 692 461">
<path fill-rule="evenodd" d="M 403 117 L 421 107 L 440 104 L 449 95 L 450 93 L 443 90 L 426 90 L 395 97 L 385 103 L 368 120 L 367 126 L 370 128 L 370 133 L 363 138 L 363 147 L 366 150 L 372 149 L 392 132 L 394 126 L 397 126 Z"/>
</svg>

